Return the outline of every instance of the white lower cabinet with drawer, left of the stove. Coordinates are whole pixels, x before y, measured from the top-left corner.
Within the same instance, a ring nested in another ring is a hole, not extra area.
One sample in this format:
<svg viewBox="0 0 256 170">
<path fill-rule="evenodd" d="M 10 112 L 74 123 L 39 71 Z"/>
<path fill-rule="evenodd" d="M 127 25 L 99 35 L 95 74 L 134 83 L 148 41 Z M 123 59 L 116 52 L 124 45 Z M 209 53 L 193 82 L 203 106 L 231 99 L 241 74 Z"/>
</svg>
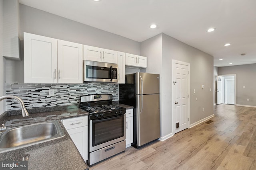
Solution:
<svg viewBox="0 0 256 170">
<path fill-rule="evenodd" d="M 88 116 L 61 120 L 76 148 L 88 160 Z"/>
</svg>

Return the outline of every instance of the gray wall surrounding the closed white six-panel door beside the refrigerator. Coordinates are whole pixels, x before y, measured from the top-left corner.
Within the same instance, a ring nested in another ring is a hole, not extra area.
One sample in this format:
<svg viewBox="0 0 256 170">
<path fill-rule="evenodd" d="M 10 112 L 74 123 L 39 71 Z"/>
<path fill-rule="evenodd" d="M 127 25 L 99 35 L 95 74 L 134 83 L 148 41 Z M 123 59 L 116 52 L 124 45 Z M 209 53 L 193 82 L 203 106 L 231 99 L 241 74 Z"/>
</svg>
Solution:
<svg viewBox="0 0 256 170">
<path fill-rule="evenodd" d="M 156 47 L 156 48 L 154 48 Z M 162 47 L 162 50 L 161 50 Z M 213 114 L 213 57 L 168 35 L 160 34 L 141 43 L 146 72 L 160 73 L 161 137 L 172 133 L 172 60 L 190 63 L 190 124 Z M 157 55 L 157 56 L 156 56 Z M 159 55 L 159 56 L 158 56 Z M 150 58 L 152 56 L 152 58 Z M 201 89 L 201 85 L 204 89 Z M 210 88 L 212 91 L 210 92 Z M 196 93 L 192 93 L 196 89 Z M 198 101 L 196 101 L 198 98 Z M 204 112 L 202 111 L 204 108 Z"/>
</svg>

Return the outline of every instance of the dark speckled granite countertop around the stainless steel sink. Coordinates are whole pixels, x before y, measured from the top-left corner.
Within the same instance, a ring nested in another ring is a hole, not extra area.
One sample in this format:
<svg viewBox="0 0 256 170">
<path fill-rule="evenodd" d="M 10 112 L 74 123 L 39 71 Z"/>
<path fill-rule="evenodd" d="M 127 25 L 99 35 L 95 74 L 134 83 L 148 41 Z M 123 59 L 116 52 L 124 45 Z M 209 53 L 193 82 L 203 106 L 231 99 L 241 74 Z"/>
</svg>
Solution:
<svg viewBox="0 0 256 170">
<path fill-rule="evenodd" d="M 30 111 L 29 111 L 30 113 Z M 88 115 L 88 112 L 80 108 L 64 109 L 59 111 L 46 111 L 32 113 L 28 117 L 22 115 L 2 115 L 0 122 L 6 123 L 7 129 L 21 125 L 38 123 L 43 121 L 58 120 L 64 137 L 47 141 L 44 143 L 16 149 L 0 154 L 1 161 L 22 161 L 23 157 L 28 159 L 28 169 L 49 169 L 49 170 L 86 170 L 88 166 L 76 149 L 72 139 L 68 135 L 60 119 L 67 119 Z"/>
</svg>

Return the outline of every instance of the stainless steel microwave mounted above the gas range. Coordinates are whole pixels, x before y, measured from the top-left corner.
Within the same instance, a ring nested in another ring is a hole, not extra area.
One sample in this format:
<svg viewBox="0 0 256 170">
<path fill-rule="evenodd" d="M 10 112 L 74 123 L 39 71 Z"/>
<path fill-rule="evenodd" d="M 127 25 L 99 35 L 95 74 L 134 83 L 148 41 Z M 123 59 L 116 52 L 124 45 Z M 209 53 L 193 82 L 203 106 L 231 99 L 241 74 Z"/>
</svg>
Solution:
<svg viewBox="0 0 256 170">
<path fill-rule="evenodd" d="M 117 82 L 118 64 L 84 60 L 84 82 Z"/>
</svg>

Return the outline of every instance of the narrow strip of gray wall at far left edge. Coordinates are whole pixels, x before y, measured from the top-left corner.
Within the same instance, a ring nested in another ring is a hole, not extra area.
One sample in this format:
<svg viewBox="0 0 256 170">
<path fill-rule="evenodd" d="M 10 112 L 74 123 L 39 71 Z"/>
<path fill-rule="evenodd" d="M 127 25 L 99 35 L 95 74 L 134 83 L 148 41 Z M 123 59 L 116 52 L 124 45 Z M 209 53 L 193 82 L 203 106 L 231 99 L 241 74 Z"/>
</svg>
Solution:
<svg viewBox="0 0 256 170">
<path fill-rule="evenodd" d="M 0 0 L 0 96 L 4 96 L 4 57 L 3 57 L 3 6 L 4 1 Z M 5 111 L 4 101 L 0 102 L 0 114 Z"/>
</svg>

